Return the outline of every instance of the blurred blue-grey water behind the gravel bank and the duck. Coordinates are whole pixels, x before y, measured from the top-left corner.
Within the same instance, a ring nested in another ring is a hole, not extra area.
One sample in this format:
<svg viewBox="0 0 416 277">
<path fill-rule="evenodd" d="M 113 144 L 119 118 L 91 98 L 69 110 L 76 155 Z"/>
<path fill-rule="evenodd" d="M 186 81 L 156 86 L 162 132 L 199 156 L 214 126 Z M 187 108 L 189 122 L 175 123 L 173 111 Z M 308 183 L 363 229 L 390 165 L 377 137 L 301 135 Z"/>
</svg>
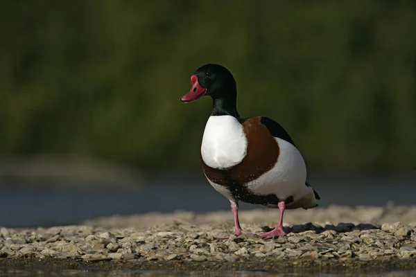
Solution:
<svg viewBox="0 0 416 277">
<path fill-rule="evenodd" d="M 333 178 L 311 180 L 320 193 L 320 206 L 329 204 L 383 206 L 416 204 L 415 177 Z M 241 210 L 263 208 L 241 204 Z M 144 188 L 80 188 L 80 186 L 46 189 L 38 186 L 21 189 L 3 186 L 0 191 L 1 226 L 52 226 L 76 224 L 106 215 L 130 215 L 176 210 L 205 213 L 228 211 L 229 202 L 199 179 L 159 179 Z"/>
</svg>

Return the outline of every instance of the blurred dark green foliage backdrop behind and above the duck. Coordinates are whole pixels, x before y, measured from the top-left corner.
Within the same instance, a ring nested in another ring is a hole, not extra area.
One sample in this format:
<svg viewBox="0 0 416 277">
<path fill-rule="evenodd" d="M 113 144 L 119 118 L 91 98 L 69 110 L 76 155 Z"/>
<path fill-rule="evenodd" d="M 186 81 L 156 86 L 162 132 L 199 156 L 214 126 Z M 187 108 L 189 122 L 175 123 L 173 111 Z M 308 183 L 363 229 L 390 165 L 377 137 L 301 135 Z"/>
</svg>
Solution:
<svg viewBox="0 0 416 277">
<path fill-rule="evenodd" d="M 1 1 L 0 157 L 93 157 L 200 173 L 226 66 L 319 172 L 414 172 L 415 1 Z"/>
</svg>

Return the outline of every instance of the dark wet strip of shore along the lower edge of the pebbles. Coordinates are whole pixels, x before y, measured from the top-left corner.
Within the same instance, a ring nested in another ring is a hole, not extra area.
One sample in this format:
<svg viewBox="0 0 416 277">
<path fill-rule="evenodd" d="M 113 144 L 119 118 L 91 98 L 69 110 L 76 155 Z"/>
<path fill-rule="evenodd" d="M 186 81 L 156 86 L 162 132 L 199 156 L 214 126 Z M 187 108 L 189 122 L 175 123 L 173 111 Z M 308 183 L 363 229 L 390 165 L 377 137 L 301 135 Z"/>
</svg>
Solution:
<svg viewBox="0 0 416 277">
<path fill-rule="evenodd" d="M 71 259 L 0 258 L 0 274 L 20 271 L 250 271 L 293 274 L 371 274 L 391 271 L 415 271 L 415 259 L 385 259 L 363 261 L 359 259 L 313 260 L 309 258 L 276 260 L 273 258 L 246 258 L 237 262 L 218 261 L 97 261 Z M 5 270 L 7 269 L 7 270 Z"/>
</svg>

